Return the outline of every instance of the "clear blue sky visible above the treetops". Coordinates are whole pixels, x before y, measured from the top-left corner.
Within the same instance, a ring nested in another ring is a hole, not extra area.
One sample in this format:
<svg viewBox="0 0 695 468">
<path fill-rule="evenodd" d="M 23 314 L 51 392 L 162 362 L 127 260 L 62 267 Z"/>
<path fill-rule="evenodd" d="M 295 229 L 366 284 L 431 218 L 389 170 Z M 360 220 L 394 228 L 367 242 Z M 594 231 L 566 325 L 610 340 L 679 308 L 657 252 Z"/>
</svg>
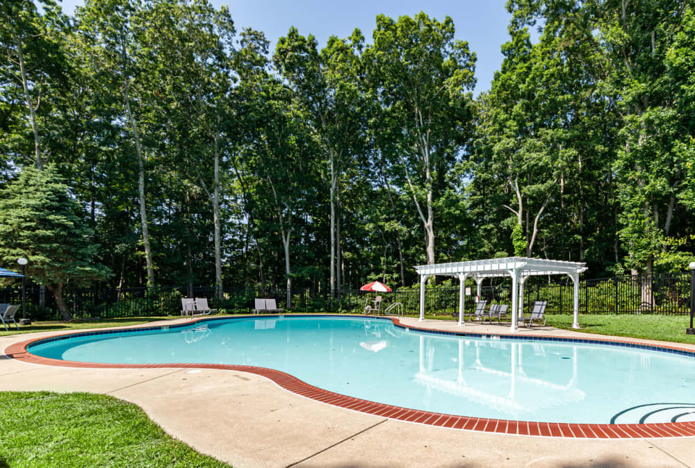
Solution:
<svg viewBox="0 0 695 468">
<path fill-rule="evenodd" d="M 331 35 L 347 37 L 360 28 L 371 42 L 379 13 L 398 18 L 424 11 L 430 17 L 449 15 L 457 39 L 466 40 L 477 55 L 475 94 L 489 90 L 490 81 L 502 64 L 500 46 L 507 41 L 510 15 L 506 0 L 211 0 L 215 6 L 229 5 L 237 29 L 251 26 L 263 31 L 275 48 L 278 37 L 295 26 L 302 35 L 316 36 L 323 47 Z M 72 14 L 82 0 L 63 0 L 63 10 Z"/>
</svg>

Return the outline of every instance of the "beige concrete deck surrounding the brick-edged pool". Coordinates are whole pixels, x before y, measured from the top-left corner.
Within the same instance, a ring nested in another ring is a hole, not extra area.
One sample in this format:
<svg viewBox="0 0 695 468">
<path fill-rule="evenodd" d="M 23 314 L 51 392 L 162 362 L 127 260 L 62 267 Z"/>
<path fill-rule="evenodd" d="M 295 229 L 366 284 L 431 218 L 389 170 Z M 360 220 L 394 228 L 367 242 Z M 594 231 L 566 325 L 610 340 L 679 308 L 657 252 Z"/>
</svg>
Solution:
<svg viewBox="0 0 695 468">
<path fill-rule="evenodd" d="M 507 326 L 405 317 L 402 324 L 441 331 L 506 334 Z M 152 322 L 143 326 L 173 324 Z M 35 337 L 0 337 L 0 349 Z M 550 327 L 523 335 L 600 338 Z M 665 344 L 650 340 L 612 340 Z M 670 344 L 674 346 L 674 344 Z M 695 346 L 675 344 L 684 349 Z M 140 406 L 167 433 L 235 467 L 683 467 L 695 466 L 695 437 L 589 440 L 459 431 L 330 406 L 241 371 L 84 369 L 0 360 L 0 390 L 110 394 Z"/>
</svg>

